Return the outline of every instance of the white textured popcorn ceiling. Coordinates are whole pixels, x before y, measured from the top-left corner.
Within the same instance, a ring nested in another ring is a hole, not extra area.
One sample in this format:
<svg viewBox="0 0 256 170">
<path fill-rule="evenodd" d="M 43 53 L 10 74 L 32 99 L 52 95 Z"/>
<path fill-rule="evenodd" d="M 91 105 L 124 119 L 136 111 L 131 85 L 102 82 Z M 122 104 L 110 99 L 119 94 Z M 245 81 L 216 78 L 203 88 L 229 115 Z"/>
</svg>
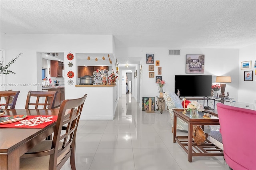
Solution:
<svg viewBox="0 0 256 170">
<path fill-rule="evenodd" d="M 256 41 L 254 0 L 1 0 L 0 6 L 3 33 L 111 34 L 116 48 L 241 48 Z"/>
</svg>

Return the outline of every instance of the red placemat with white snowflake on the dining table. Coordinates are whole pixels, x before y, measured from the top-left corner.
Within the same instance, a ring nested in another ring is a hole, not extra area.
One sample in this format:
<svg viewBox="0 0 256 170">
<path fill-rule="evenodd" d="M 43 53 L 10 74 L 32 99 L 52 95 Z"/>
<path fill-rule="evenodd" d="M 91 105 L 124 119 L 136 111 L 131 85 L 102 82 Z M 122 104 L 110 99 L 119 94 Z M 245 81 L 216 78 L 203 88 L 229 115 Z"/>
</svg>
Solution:
<svg viewBox="0 0 256 170">
<path fill-rule="evenodd" d="M 8 124 L 0 124 L 0 128 L 44 128 L 57 121 L 58 116 L 37 115 L 27 116 L 25 119 Z"/>
</svg>

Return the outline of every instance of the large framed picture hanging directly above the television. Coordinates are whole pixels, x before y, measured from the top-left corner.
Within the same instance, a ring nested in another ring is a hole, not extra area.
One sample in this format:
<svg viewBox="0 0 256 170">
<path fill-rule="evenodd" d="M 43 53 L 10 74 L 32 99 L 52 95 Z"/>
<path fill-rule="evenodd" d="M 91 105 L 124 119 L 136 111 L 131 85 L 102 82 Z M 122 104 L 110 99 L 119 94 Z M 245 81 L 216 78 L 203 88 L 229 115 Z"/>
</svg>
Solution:
<svg viewBox="0 0 256 170">
<path fill-rule="evenodd" d="M 186 54 L 186 73 L 204 73 L 204 54 Z"/>
</svg>

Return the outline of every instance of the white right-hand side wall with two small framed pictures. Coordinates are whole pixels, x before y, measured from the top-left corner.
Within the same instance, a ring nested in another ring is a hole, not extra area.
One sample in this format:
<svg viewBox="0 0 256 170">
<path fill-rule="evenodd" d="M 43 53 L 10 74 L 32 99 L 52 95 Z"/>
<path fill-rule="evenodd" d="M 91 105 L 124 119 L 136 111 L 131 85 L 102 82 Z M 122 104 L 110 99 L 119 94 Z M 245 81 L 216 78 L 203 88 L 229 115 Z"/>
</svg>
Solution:
<svg viewBox="0 0 256 170">
<path fill-rule="evenodd" d="M 256 68 L 254 62 L 256 61 L 255 44 L 248 47 L 241 48 L 239 50 L 239 91 L 238 101 L 244 103 L 251 103 L 256 106 Z M 252 67 L 250 69 L 241 69 L 241 62 L 252 61 Z M 244 71 L 252 71 L 253 81 L 244 81 Z"/>
</svg>

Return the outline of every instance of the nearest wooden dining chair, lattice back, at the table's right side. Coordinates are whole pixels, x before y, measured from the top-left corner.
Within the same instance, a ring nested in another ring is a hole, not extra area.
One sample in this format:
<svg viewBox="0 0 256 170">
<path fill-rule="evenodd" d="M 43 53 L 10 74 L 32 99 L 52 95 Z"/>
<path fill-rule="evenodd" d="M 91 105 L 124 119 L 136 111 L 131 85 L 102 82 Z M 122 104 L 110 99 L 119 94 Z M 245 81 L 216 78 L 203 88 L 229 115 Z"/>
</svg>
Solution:
<svg viewBox="0 0 256 170">
<path fill-rule="evenodd" d="M 43 140 L 20 157 L 21 170 L 60 169 L 70 158 L 72 170 L 75 165 L 76 131 L 84 106 L 84 97 L 66 99 L 60 105 L 56 128 L 52 140 Z M 62 126 L 67 128 L 63 132 Z"/>
</svg>

